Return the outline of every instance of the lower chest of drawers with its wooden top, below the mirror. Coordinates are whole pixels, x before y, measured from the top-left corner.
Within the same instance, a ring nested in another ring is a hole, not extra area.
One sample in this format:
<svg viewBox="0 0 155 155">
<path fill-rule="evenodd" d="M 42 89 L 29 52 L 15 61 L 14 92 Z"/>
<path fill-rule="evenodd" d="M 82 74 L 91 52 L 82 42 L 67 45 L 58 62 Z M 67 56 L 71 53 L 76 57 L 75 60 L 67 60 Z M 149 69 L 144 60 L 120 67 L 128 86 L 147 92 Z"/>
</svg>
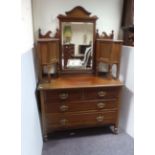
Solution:
<svg viewBox="0 0 155 155">
<path fill-rule="evenodd" d="M 119 80 L 94 75 L 66 75 L 40 83 L 47 135 L 55 130 L 106 124 L 116 130 L 122 86 Z"/>
</svg>

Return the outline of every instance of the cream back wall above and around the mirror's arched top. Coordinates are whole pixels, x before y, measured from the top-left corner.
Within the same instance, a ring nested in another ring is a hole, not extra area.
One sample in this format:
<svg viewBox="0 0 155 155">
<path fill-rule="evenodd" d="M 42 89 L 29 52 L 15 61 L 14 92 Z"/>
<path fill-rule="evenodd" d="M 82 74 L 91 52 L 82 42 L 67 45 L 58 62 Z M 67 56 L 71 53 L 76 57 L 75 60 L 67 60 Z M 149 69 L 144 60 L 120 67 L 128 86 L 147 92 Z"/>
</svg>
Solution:
<svg viewBox="0 0 155 155">
<path fill-rule="evenodd" d="M 55 32 L 59 26 L 57 16 L 80 5 L 92 15 L 99 17 L 97 28 L 100 32 L 111 33 L 111 30 L 114 30 L 115 38 L 118 37 L 123 0 L 32 0 L 32 2 L 35 36 L 38 34 L 38 28 L 41 28 L 43 33 L 48 30 Z"/>
</svg>

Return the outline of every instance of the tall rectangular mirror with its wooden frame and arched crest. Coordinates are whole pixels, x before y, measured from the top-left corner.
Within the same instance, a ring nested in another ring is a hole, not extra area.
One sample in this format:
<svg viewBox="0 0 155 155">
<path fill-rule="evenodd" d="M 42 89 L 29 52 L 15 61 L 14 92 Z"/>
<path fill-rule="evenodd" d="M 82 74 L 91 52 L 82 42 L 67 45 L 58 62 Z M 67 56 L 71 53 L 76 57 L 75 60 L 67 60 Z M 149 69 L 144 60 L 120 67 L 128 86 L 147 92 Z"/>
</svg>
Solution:
<svg viewBox="0 0 155 155">
<path fill-rule="evenodd" d="M 90 71 L 94 67 L 96 16 L 81 6 L 59 15 L 62 72 Z"/>
</svg>

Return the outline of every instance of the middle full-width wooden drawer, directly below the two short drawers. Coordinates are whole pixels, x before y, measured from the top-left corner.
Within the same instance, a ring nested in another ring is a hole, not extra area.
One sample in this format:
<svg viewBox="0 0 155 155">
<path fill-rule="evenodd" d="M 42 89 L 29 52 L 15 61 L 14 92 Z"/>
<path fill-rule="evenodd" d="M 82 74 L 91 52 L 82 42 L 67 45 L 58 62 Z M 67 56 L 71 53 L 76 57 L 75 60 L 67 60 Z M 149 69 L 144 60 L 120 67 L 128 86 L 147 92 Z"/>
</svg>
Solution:
<svg viewBox="0 0 155 155">
<path fill-rule="evenodd" d="M 66 102 L 64 103 L 47 103 L 45 111 L 47 113 L 58 112 L 76 112 L 88 110 L 113 109 L 118 107 L 118 101 L 113 100 L 96 100 L 82 102 Z"/>
</svg>

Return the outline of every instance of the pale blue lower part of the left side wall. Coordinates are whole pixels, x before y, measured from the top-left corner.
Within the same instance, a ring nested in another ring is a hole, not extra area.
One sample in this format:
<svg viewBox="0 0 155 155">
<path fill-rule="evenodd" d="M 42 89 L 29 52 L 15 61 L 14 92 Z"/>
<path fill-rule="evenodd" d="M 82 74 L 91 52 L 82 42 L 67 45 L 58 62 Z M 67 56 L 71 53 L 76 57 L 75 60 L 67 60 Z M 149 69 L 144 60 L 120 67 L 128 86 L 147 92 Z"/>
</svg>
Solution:
<svg viewBox="0 0 155 155">
<path fill-rule="evenodd" d="M 22 155 L 41 155 L 42 135 L 35 97 L 36 80 L 32 49 L 22 55 Z"/>
</svg>

